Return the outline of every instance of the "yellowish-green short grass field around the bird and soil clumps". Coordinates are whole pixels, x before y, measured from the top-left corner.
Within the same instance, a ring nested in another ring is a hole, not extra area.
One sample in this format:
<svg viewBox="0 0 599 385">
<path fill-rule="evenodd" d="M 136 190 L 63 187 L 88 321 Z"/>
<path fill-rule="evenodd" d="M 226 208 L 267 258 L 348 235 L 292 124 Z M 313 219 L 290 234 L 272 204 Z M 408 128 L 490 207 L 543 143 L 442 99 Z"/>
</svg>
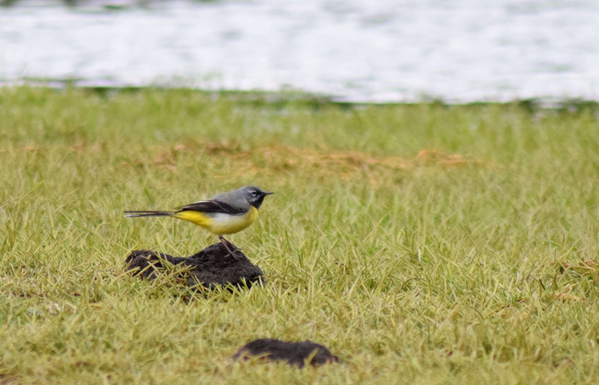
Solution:
<svg viewBox="0 0 599 385">
<path fill-rule="evenodd" d="M 0 90 L 2 383 L 597 383 L 599 108 Z M 186 304 L 132 220 L 245 184 L 264 288 Z M 343 363 L 232 363 L 255 338 Z"/>
</svg>

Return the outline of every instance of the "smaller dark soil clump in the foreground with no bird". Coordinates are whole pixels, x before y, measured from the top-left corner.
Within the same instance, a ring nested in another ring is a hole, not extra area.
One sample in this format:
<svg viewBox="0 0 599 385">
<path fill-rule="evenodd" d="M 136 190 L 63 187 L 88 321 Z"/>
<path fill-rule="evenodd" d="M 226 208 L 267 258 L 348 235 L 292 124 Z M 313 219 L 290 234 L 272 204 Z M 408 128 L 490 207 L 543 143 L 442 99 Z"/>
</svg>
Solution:
<svg viewBox="0 0 599 385">
<path fill-rule="evenodd" d="M 310 340 L 302 342 L 285 342 L 273 338 L 262 338 L 249 342 L 233 355 L 233 359 L 240 357 L 244 360 L 258 356 L 270 361 L 285 361 L 289 365 L 298 365 L 303 368 L 305 361 L 311 357 L 309 365 L 316 366 L 323 363 L 338 362 L 339 357 L 332 355 L 326 347 L 313 343 Z"/>
</svg>

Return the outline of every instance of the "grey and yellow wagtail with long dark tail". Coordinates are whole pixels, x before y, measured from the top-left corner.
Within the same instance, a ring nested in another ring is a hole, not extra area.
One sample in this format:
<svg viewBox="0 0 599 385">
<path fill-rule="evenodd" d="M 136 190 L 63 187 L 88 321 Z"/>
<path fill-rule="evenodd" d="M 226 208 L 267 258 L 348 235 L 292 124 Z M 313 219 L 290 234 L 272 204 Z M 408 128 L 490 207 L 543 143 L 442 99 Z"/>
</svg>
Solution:
<svg viewBox="0 0 599 385">
<path fill-rule="evenodd" d="M 223 235 L 238 233 L 253 224 L 258 218 L 258 209 L 264 198 L 271 194 L 274 192 L 264 191 L 256 186 L 244 186 L 214 195 L 211 199 L 175 207 L 175 211 L 142 210 L 124 213 L 129 218 L 170 216 L 192 222 L 218 236 L 229 255 L 235 256 L 229 249 L 230 242 Z"/>
</svg>

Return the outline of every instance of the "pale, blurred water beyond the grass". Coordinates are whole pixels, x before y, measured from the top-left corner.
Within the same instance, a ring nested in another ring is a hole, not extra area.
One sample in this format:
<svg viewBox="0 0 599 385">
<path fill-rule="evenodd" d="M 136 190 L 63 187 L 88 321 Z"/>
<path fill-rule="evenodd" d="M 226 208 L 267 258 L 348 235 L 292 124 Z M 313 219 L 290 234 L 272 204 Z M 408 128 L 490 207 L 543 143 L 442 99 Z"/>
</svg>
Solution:
<svg viewBox="0 0 599 385">
<path fill-rule="evenodd" d="M 599 100 L 597 0 L 120 5 L 0 8 L 0 79 L 294 88 L 371 102 Z"/>
</svg>

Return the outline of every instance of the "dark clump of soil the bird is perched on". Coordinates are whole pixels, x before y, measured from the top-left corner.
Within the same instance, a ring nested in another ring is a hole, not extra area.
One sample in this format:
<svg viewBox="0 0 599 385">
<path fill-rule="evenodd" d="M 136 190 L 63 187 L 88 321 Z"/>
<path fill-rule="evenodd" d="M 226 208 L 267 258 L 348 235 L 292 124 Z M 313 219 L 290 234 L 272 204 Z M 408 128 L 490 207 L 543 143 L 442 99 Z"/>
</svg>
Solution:
<svg viewBox="0 0 599 385">
<path fill-rule="evenodd" d="M 201 284 L 213 289 L 217 285 L 231 284 L 243 288 L 245 280 L 247 287 L 251 288 L 255 283 L 264 283 L 262 270 L 252 264 L 240 249 L 231 243 L 228 246 L 232 254 L 219 242 L 188 258 L 156 253 L 152 250 L 134 250 L 127 256 L 125 263 L 127 270 L 136 270 L 134 276 L 139 275 L 147 279 L 155 279 L 164 262 L 173 265 L 184 264 L 190 267 L 187 285 L 192 287 Z"/>
</svg>

